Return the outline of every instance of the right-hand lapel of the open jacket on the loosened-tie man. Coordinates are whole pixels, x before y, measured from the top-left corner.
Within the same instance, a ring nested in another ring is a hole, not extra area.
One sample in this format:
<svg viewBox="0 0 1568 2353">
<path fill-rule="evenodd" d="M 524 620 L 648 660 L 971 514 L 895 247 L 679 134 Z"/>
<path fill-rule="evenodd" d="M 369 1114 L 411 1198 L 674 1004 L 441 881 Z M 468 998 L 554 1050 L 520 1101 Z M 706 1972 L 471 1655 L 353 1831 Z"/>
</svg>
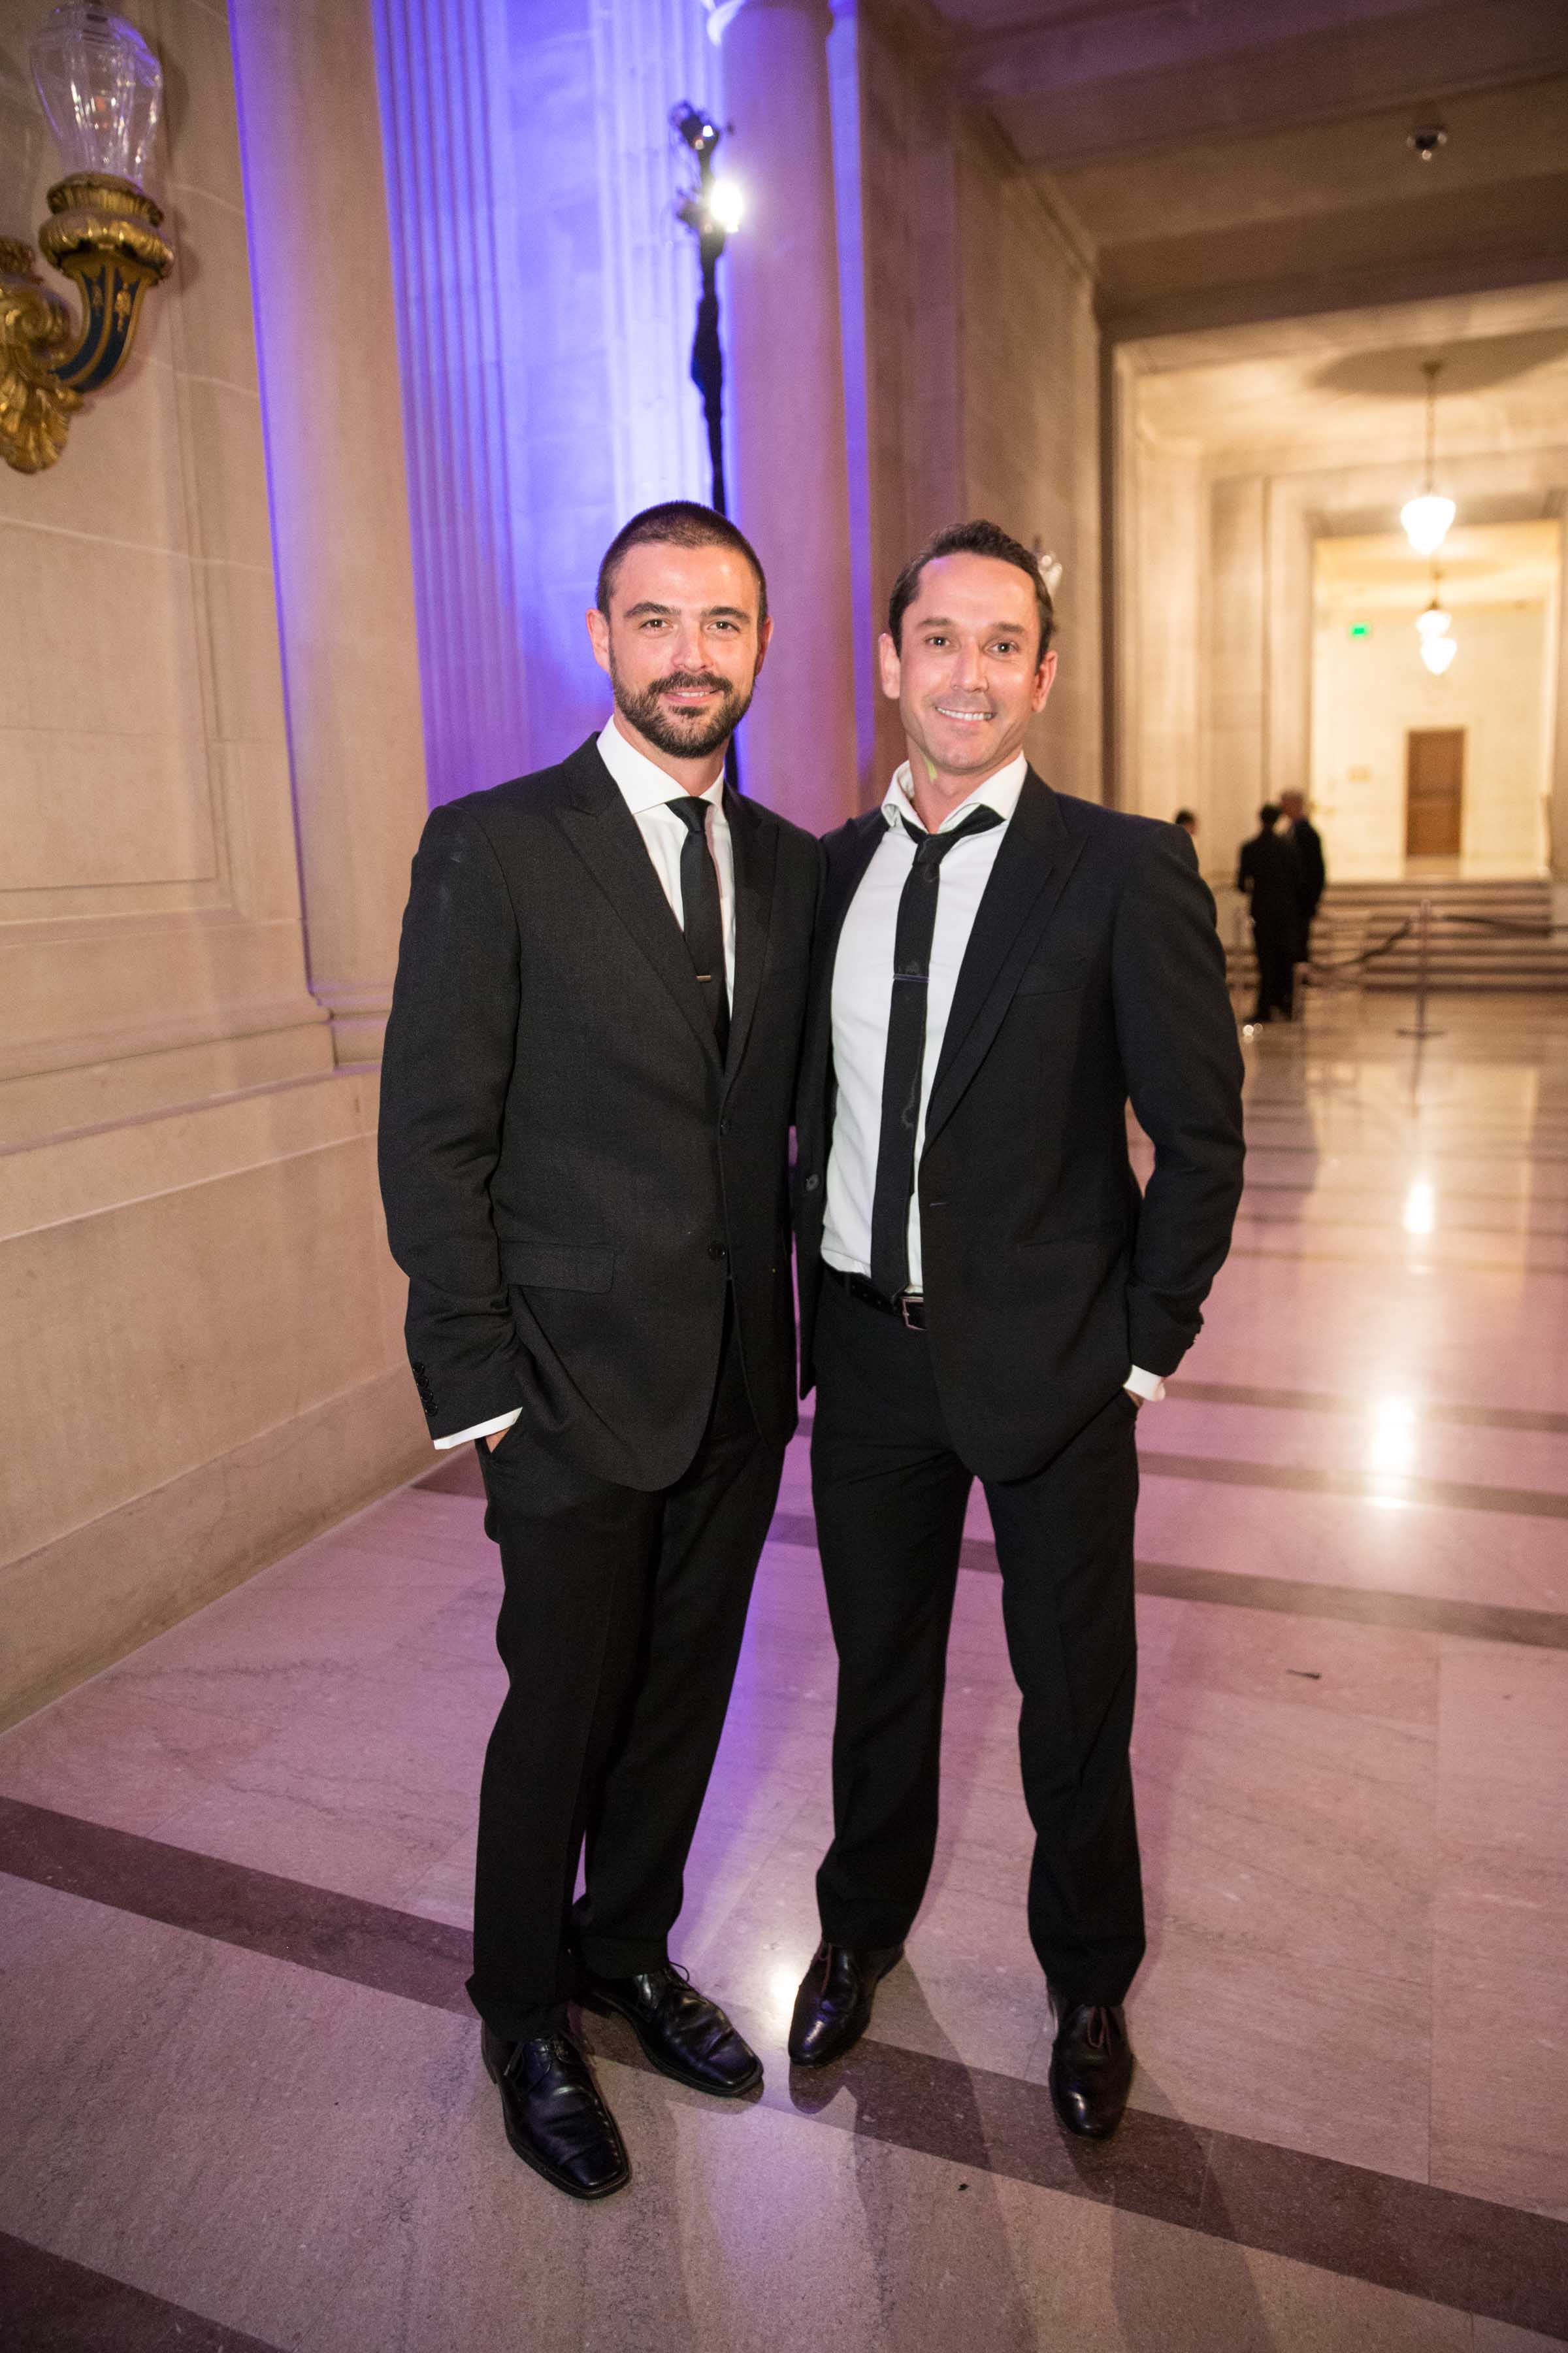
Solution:
<svg viewBox="0 0 1568 2353">
<path fill-rule="evenodd" d="M 1030 769 L 959 965 L 943 1054 L 926 1106 L 926 1144 L 950 1118 L 1009 1009 L 1018 974 L 1056 911 L 1079 856 L 1056 793 Z"/>
</svg>

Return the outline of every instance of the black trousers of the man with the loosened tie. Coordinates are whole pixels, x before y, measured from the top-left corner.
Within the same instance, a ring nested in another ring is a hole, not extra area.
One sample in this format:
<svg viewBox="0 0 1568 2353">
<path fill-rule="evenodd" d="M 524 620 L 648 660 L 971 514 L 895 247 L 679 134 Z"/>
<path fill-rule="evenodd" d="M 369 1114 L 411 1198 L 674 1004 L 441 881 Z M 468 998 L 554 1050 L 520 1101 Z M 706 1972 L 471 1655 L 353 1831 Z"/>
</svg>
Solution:
<svg viewBox="0 0 1568 2353">
<path fill-rule="evenodd" d="M 811 1492 L 839 1652 L 823 1937 L 903 1944 L 938 1826 L 947 1628 L 973 1473 L 924 1332 L 823 1285 Z M 987 1482 L 1034 1824 L 1030 1939 L 1065 2000 L 1119 2002 L 1143 1960 L 1133 1734 L 1138 1407 L 1117 1391 L 1032 1478 Z"/>
</svg>

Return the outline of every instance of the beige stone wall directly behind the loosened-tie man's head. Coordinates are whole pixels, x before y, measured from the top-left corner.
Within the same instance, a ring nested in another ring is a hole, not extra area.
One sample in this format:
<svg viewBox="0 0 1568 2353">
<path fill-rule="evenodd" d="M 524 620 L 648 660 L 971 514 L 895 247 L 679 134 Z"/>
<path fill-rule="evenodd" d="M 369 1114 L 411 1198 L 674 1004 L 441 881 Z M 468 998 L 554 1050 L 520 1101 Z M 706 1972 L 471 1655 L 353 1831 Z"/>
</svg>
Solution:
<svg viewBox="0 0 1568 2353">
<path fill-rule="evenodd" d="M 863 706 L 875 640 L 907 555 L 990 515 L 1063 565 L 1060 675 L 1030 755 L 1063 791 L 1100 798 L 1100 435 L 1093 280 L 997 132 L 966 118 L 931 28 L 886 5 L 858 21 L 867 609 L 856 614 Z M 839 104 L 844 104 L 839 99 Z M 856 402 L 858 393 L 858 402 Z M 865 736 L 865 729 L 863 729 Z M 903 758 L 875 696 L 863 793 Z"/>
</svg>

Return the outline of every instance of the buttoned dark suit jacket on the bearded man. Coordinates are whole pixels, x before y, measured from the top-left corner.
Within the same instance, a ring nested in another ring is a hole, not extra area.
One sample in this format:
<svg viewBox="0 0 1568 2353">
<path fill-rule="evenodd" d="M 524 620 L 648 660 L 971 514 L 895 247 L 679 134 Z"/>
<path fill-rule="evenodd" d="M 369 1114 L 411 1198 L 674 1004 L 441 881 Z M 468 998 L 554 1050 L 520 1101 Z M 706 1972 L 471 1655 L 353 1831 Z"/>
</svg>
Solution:
<svg viewBox="0 0 1568 2353">
<path fill-rule="evenodd" d="M 733 1280 L 745 1381 L 795 1428 L 788 1132 L 823 854 L 724 798 L 724 1066 L 592 739 L 433 809 L 381 1071 L 381 1195 L 433 1438 L 522 1407 L 564 1459 L 668 1487 L 703 1435 Z"/>
</svg>

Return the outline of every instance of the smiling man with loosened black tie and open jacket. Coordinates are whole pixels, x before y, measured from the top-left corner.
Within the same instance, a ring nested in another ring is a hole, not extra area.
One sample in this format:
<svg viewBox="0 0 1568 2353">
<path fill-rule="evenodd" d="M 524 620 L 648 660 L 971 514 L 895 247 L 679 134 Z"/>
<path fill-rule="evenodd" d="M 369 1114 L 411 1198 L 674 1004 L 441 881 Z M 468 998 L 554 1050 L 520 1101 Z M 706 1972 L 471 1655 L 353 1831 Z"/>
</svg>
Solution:
<svg viewBox="0 0 1568 2353">
<path fill-rule="evenodd" d="M 882 638 L 907 767 L 825 845 L 797 1235 L 839 1704 L 790 2057 L 820 2066 L 865 2031 L 926 1887 L 980 1478 L 1023 1692 L 1051 2094 L 1072 2132 L 1107 2134 L 1143 1958 L 1133 1421 L 1229 1247 L 1241 1059 L 1187 835 L 1025 762 L 1051 626 L 1034 558 L 997 525 L 933 539 Z M 1128 1096 L 1154 1141 L 1143 1198 Z"/>
</svg>

